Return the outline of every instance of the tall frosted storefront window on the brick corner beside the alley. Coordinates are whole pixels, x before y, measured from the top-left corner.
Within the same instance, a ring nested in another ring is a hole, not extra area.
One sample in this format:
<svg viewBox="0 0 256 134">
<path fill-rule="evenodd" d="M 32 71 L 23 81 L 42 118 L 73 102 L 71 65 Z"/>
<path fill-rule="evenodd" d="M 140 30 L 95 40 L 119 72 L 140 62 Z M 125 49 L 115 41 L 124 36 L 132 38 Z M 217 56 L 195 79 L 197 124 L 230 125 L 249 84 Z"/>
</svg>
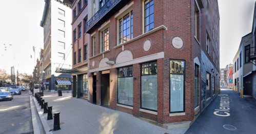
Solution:
<svg viewBox="0 0 256 134">
<path fill-rule="evenodd" d="M 184 61 L 170 61 L 170 113 L 184 111 Z"/>
</svg>

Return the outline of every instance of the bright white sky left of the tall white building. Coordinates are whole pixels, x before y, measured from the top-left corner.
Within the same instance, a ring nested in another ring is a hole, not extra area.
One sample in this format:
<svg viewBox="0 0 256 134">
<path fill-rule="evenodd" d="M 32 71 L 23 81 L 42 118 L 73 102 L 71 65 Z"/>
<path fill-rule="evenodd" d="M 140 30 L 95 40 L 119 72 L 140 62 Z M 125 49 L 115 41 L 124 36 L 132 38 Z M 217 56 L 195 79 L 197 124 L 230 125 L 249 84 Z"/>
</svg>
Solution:
<svg viewBox="0 0 256 134">
<path fill-rule="evenodd" d="M 33 46 L 39 57 L 44 43 L 40 27 L 44 5 L 44 0 L 0 0 L 0 69 L 10 74 L 14 66 L 15 74 L 17 70 L 32 74 Z"/>
</svg>

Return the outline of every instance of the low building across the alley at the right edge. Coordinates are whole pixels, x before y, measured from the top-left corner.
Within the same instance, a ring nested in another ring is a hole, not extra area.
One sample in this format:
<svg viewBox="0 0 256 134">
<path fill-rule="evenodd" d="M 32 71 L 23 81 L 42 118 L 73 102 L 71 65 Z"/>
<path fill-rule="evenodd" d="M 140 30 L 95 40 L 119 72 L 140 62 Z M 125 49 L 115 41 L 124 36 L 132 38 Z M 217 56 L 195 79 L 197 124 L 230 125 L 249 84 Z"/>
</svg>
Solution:
<svg viewBox="0 0 256 134">
<path fill-rule="evenodd" d="M 251 82 L 248 83 L 248 80 L 245 81 L 244 77 L 249 75 L 253 68 L 252 66 L 253 64 L 250 62 L 249 57 L 247 56 L 248 50 L 251 47 L 252 47 L 252 33 L 249 33 L 244 37 L 242 37 L 239 50 L 233 59 L 234 90 L 237 92 L 243 91 L 244 95 L 250 95 L 250 96 L 252 96 L 252 87 L 250 86 Z"/>
</svg>

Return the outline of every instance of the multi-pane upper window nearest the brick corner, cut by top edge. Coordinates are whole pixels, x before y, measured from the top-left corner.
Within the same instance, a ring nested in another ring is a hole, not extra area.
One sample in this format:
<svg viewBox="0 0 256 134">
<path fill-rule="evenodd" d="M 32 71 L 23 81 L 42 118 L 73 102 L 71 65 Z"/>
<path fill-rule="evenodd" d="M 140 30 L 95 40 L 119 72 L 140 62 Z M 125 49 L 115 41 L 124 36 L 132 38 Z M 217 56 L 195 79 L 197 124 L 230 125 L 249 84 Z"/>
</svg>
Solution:
<svg viewBox="0 0 256 134">
<path fill-rule="evenodd" d="M 144 33 L 154 28 L 154 1 L 144 2 Z"/>
</svg>

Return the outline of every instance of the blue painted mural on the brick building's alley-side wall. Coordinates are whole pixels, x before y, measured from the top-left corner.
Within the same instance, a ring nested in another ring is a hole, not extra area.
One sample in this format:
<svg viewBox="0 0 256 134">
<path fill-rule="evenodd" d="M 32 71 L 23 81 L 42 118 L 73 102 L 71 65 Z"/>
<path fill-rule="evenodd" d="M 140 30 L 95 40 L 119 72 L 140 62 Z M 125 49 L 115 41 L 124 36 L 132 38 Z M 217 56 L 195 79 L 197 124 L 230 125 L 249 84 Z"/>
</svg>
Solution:
<svg viewBox="0 0 256 134">
<path fill-rule="evenodd" d="M 212 73 L 211 69 L 214 69 L 214 74 Z M 215 67 L 212 65 L 208 57 L 205 55 L 203 51 L 201 51 L 201 108 L 203 109 L 206 104 L 206 72 L 211 74 L 211 77 L 216 74 L 220 76 L 217 70 L 215 70 Z M 214 95 L 214 88 L 215 93 L 219 92 L 220 88 L 220 79 L 219 77 L 211 78 L 212 86 L 210 87 L 212 89 L 211 95 Z M 214 83 L 215 81 L 215 83 Z"/>
</svg>

